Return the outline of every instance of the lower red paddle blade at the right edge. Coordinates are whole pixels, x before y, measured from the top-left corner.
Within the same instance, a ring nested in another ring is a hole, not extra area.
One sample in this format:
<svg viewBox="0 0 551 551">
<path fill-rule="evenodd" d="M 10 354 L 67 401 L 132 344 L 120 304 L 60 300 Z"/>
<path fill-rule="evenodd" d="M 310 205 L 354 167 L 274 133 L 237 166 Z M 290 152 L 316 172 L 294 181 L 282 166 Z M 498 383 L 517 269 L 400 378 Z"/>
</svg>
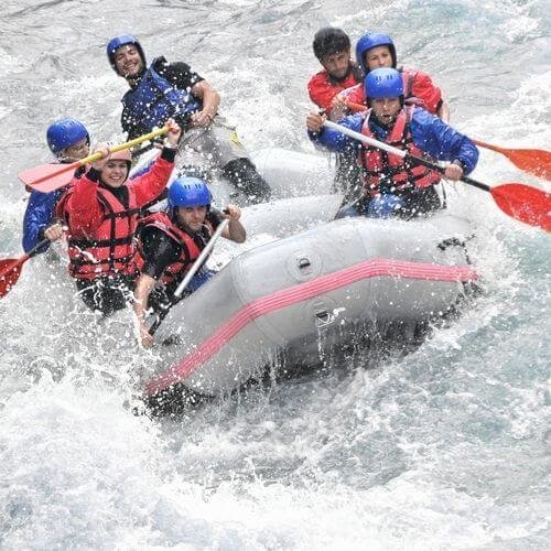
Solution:
<svg viewBox="0 0 551 551">
<path fill-rule="evenodd" d="M 501 184 L 490 190 L 497 206 L 512 218 L 551 231 L 551 194 L 525 184 Z"/>
</svg>

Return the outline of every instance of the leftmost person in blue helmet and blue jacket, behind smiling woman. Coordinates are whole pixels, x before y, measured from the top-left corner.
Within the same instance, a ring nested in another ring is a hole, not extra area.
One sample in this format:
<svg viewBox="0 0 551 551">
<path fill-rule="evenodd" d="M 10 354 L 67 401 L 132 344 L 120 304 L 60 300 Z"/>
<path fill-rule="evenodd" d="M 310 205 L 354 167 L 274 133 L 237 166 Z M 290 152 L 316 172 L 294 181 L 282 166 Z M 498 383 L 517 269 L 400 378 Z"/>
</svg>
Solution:
<svg viewBox="0 0 551 551">
<path fill-rule="evenodd" d="M 76 119 L 56 120 L 46 131 L 46 141 L 56 162 L 73 163 L 88 155 L 90 136 L 86 127 Z M 82 174 L 84 169 L 77 171 Z M 45 252 L 52 241 L 63 236 L 61 220 L 55 218 L 55 207 L 66 187 L 54 192 L 32 191 L 23 217 L 23 249 L 29 252 L 40 241 L 47 239 L 37 252 Z"/>
</svg>

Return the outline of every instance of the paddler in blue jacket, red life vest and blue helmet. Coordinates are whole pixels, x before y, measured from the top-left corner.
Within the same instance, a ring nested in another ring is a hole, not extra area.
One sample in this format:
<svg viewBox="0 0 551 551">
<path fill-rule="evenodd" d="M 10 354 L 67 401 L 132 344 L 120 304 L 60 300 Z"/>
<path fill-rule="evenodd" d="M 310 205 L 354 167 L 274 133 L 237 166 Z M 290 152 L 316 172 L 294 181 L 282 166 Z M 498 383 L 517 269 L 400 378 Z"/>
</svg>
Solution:
<svg viewBox="0 0 551 551">
<path fill-rule="evenodd" d="M 406 106 L 403 80 L 398 71 L 370 71 L 364 86 L 369 109 L 344 118 L 343 127 L 403 149 L 410 155 L 447 161 L 444 177 L 449 180 L 460 180 L 474 170 L 478 161 L 474 143 L 425 109 Z M 312 141 L 334 151 L 354 147 L 361 166 L 363 193 L 355 208 L 345 214 L 412 218 L 444 206 L 434 190 L 441 180 L 439 172 L 364 145 L 324 127 L 324 120 L 316 112 L 307 116 L 306 128 Z"/>
</svg>

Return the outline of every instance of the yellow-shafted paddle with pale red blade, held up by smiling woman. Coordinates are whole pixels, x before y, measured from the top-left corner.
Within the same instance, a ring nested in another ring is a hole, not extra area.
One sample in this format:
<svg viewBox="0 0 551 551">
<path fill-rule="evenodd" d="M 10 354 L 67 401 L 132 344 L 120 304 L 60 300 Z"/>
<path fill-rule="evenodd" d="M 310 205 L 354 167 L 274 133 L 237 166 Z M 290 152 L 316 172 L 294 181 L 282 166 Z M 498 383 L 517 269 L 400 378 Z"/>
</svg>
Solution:
<svg viewBox="0 0 551 551">
<path fill-rule="evenodd" d="M 133 140 L 114 145 L 109 148 L 109 151 L 111 153 L 116 153 L 117 151 L 122 151 L 123 149 L 130 149 L 138 143 L 144 142 L 147 140 L 152 140 L 153 138 L 162 136 L 168 131 L 169 127 L 160 128 L 159 130 L 154 130 L 153 132 L 140 136 L 139 138 L 134 138 Z M 36 190 L 39 192 L 48 193 L 58 190 L 64 185 L 67 185 L 71 182 L 75 170 L 84 166 L 87 163 L 93 163 L 94 161 L 101 159 L 101 152 L 98 152 L 85 156 L 84 159 L 80 159 L 79 161 L 71 164 L 41 164 L 40 166 L 34 166 L 32 169 L 20 172 L 18 176 L 29 187 L 32 187 L 33 190 Z"/>
</svg>

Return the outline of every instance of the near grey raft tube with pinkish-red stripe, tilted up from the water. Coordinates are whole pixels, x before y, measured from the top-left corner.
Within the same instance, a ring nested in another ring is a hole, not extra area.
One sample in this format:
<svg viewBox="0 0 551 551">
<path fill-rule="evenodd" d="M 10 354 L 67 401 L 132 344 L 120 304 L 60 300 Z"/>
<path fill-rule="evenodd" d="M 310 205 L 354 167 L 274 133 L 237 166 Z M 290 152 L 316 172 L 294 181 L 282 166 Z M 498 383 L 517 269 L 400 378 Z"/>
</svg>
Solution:
<svg viewBox="0 0 551 551">
<path fill-rule="evenodd" d="M 170 311 L 145 393 L 219 396 L 278 369 L 281 355 L 314 366 L 358 335 L 380 338 L 392 326 L 407 338 L 471 292 L 471 234 L 445 213 L 345 218 L 248 250 Z"/>
</svg>

